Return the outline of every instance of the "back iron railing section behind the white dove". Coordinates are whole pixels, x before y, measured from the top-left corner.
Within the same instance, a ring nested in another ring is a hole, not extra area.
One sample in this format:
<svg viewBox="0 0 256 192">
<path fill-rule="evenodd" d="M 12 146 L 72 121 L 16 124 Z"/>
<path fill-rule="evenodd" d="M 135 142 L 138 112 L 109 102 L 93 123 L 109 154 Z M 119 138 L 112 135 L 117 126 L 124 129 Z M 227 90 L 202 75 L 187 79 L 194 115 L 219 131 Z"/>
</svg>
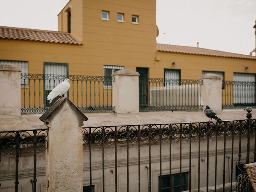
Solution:
<svg viewBox="0 0 256 192">
<path fill-rule="evenodd" d="M 47 95 L 65 78 L 70 80 L 70 88 L 65 96 L 82 112 L 114 111 L 112 107 L 114 77 L 21 74 L 21 113 L 43 114 L 50 106 L 49 101 L 46 100 Z"/>
</svg>

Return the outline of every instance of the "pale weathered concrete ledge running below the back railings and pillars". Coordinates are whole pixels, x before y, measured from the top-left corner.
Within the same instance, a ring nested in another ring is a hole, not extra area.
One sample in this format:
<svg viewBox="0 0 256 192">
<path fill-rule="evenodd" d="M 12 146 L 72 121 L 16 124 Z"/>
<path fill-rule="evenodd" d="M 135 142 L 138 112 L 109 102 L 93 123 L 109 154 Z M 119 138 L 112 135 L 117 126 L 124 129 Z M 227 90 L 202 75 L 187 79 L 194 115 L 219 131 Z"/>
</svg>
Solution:
<svg viewBox="0 0 256 192">
<path fill-rule="evenodd" d="M 252 110 L 252 118 L 256 118 L 254 110 Z M 246 119 L 246 113 L 244 109 L 226 109 L 217 112 L 217 115 L 222 120 L 237 120 Z M 44 128 L 39 120 L 40 116 L 22 115 L 20 120 L 2 120 L 0 121 L 0 130 Z M 138 114 L 87 113 L 86 116 L 89 118 L 86 126 L 204 122 L 209 120 L 202 111 L 140 112 Z"/>
</svg>

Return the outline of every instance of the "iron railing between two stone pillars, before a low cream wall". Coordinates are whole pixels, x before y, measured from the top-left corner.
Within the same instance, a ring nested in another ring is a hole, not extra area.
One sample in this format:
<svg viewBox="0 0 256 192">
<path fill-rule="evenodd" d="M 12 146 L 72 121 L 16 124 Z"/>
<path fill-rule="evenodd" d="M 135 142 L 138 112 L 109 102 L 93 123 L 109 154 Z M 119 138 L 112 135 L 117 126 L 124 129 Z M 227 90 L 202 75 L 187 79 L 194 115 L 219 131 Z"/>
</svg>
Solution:
<svg viewBox="0 0 256 192">
<path fill-rule="evenodd" d="M 140 111 L 202 110 L 201 80 L 140 80 Z"/>
</svg>

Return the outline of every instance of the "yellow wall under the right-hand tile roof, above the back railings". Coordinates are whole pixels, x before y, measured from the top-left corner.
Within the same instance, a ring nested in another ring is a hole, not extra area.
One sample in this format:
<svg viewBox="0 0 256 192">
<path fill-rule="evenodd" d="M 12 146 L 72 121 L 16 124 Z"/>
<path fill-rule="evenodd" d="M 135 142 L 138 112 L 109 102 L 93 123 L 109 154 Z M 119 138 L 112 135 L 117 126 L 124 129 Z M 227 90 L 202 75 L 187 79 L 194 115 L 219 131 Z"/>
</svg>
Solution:
<svg viewBox="0 0 256 192">
<path fill-rule="evenodd" d="M 233 80 L 234 72 L 256 73 L 256 60 L 240 58 L 224 58 L 216 56 L 202 56 L 193 54 L 180 54 L 170 52 L 157 52 L 155 68 L 151 77 L 163 78 L 164 69 L 180 69 L 182 79 L 198 79 L 202 71 L 224 72 L 225 80 Z M 172 65 L 175 62 L 175 66 Z M 248 70 L 245 67 L 248 66 Z"/>
</svg>

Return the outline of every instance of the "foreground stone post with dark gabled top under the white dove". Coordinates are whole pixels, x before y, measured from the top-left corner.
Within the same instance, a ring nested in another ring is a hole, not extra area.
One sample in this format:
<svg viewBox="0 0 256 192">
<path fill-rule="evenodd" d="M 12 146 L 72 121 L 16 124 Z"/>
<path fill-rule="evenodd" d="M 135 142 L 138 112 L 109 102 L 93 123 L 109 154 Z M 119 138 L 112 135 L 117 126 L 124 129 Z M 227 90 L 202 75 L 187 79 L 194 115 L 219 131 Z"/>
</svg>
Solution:
<svg viewBox="0 0 256 192">
<path fill-rule="evenodd" d="M 49 128 L 46 192 L 82 192 L 82 126 L 88 118 L 68 98 L 60 98 L 40 120 Z"/>
</svg>

